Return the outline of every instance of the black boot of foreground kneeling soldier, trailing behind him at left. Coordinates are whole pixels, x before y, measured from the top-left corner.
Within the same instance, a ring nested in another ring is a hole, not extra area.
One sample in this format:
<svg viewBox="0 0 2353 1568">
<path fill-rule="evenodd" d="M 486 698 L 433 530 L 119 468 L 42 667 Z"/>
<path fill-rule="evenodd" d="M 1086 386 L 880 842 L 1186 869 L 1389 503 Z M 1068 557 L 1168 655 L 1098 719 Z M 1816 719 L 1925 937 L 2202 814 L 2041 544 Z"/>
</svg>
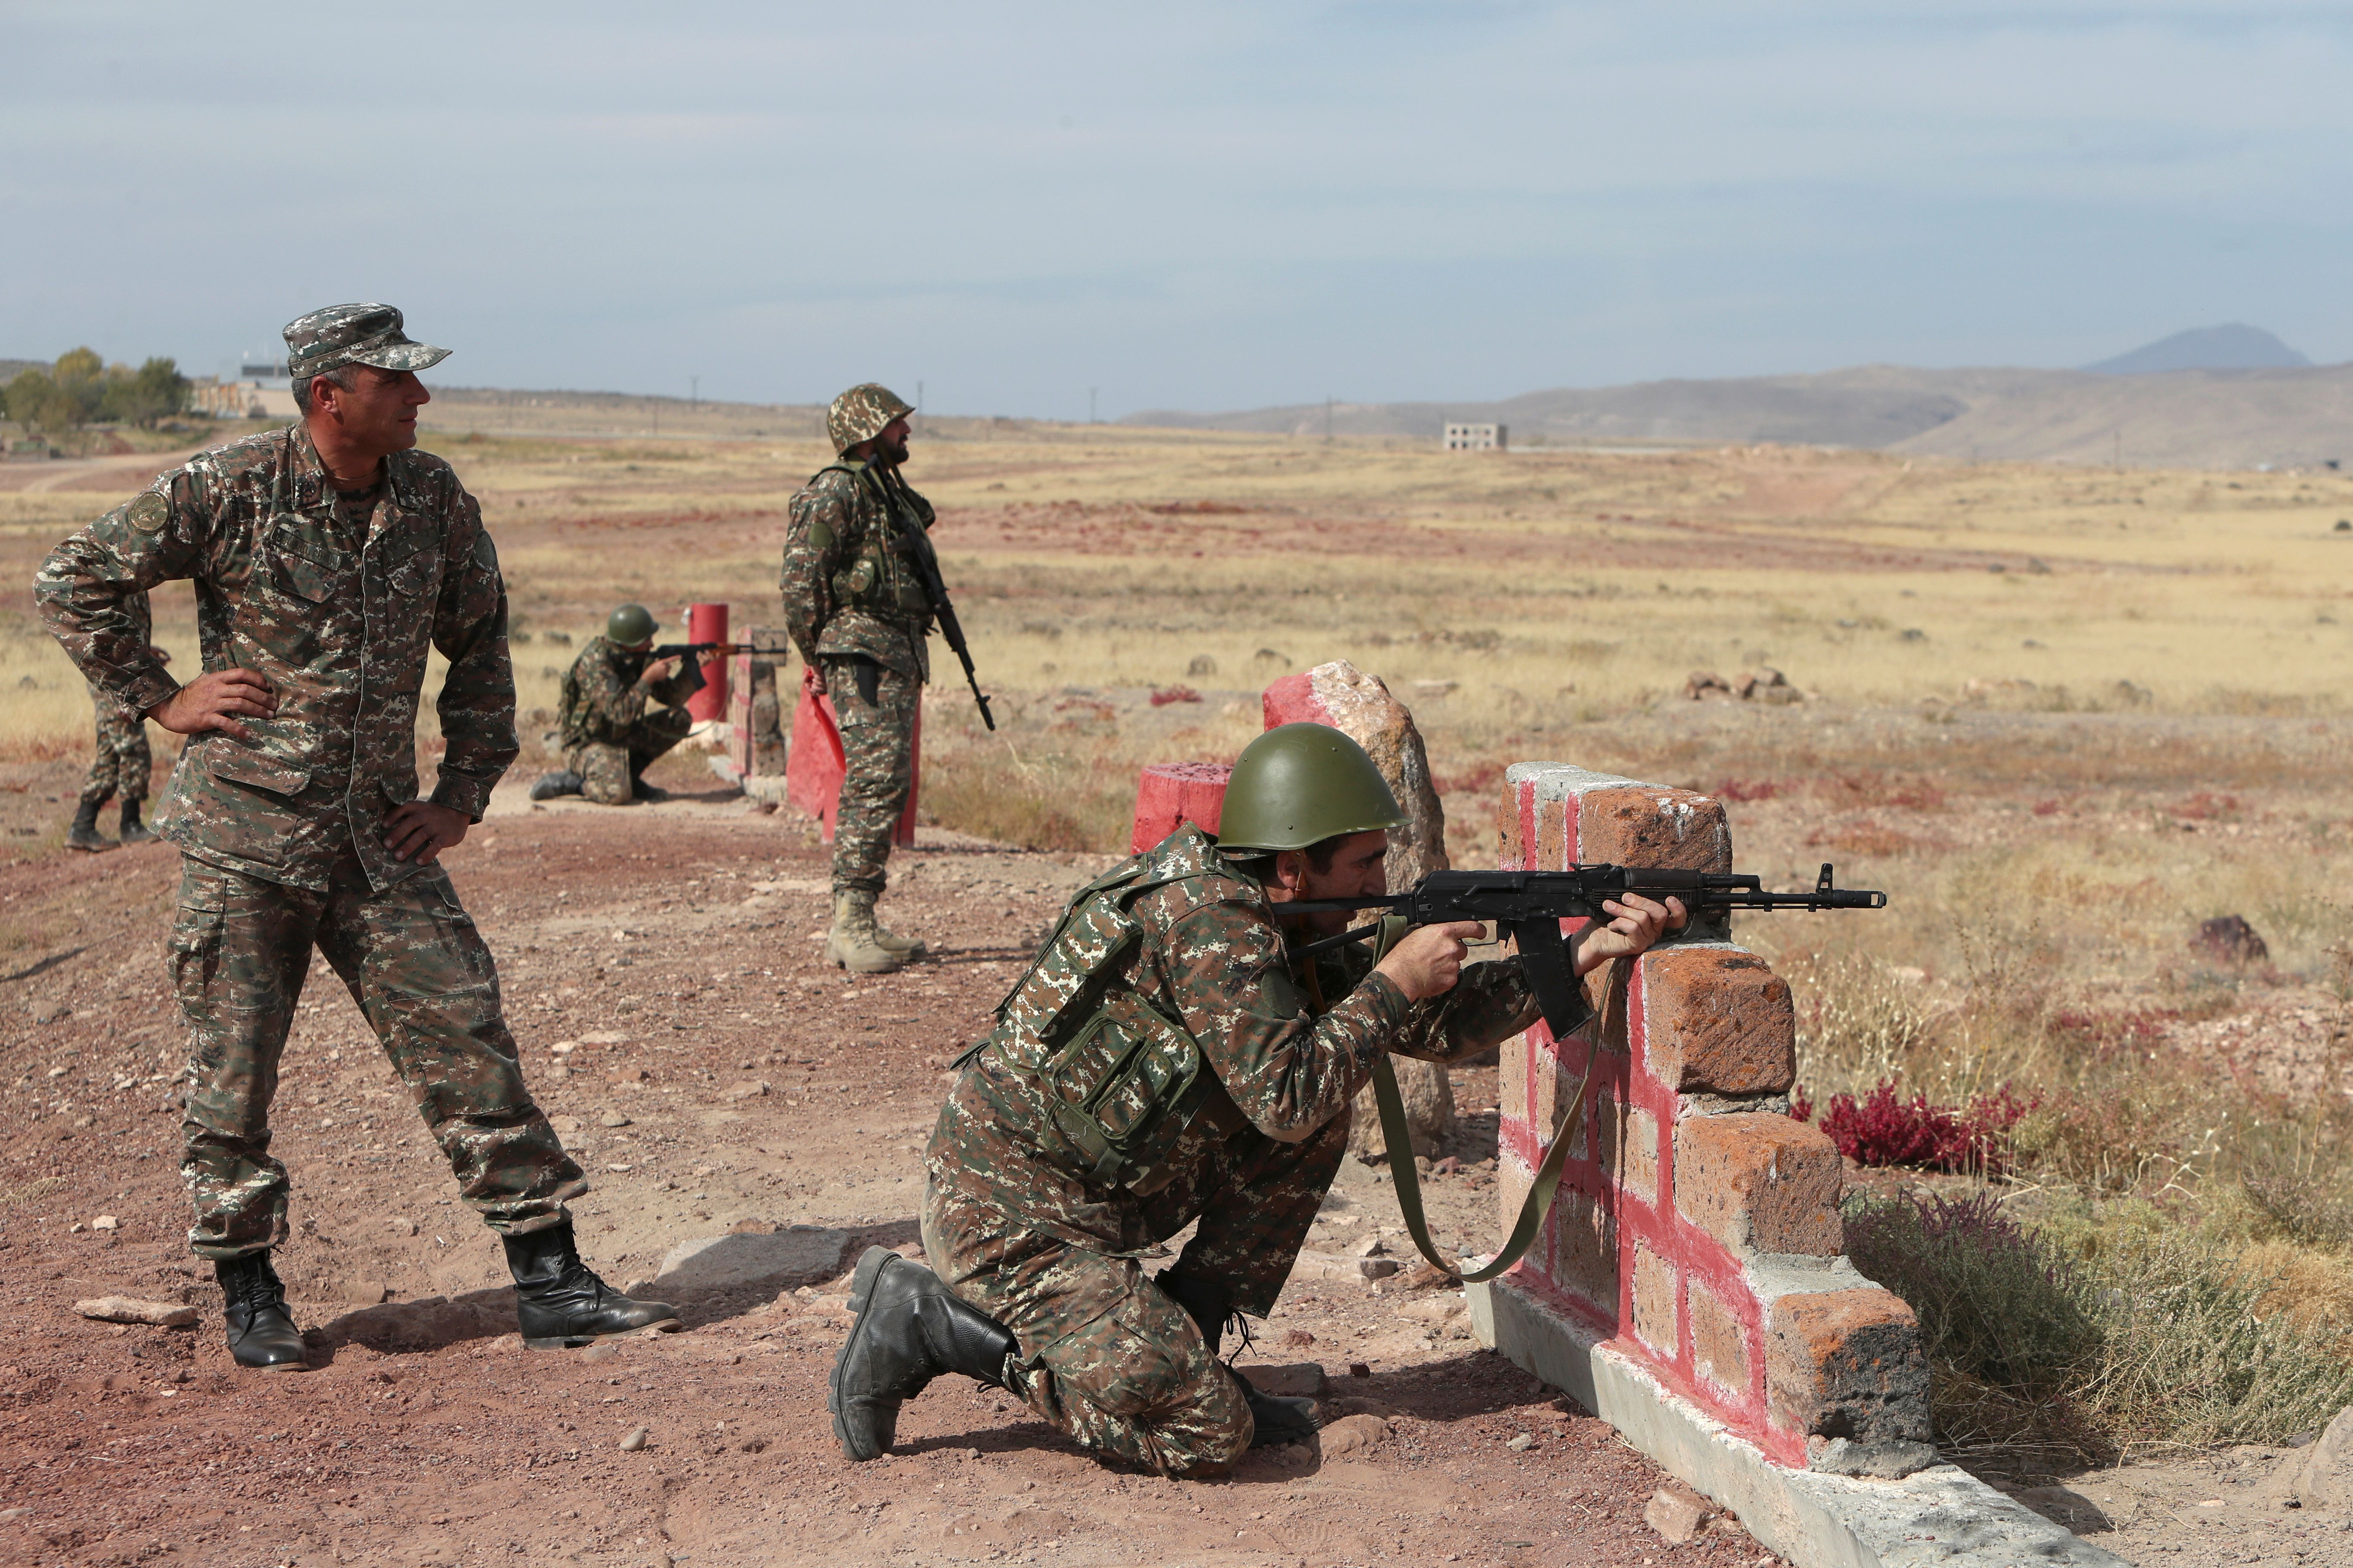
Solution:
<svg viewBox="0 0 2353 1568">
<path fill-rule="evenodd" d="M 849 1276 L 849 1326 L 833 1359 L 826 1408 L 833 1436 L 852 1460 L 889 1453 L 899 1406 L 941 1373 L 1007 1387 L 1005 1363 L 1019 1352 L 993 1316 L 948 1293 L 939 1274 L 899 1253 L 868 1246 Z"/>
</svg>

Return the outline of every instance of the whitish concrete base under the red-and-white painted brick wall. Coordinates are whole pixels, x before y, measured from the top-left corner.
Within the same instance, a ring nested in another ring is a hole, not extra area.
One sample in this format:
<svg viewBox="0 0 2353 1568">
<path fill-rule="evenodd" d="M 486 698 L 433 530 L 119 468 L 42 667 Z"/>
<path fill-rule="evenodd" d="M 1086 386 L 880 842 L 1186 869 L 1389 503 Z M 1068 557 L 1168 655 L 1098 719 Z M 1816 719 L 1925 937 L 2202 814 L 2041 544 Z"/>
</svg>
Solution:
<svg viewBox="0 0 2353 1568">
<path fill-rule="evenodd" d="M 1901 1481 L 1786 1469 L 1572 1316 L 1508 1279 L 1471 1286 L 1471 1328 L 1574 1394 L 1668 1472 L 1732 1509 L 1798 1568 L 2120 1566 L 1955 1465 Z"/>
</svg>

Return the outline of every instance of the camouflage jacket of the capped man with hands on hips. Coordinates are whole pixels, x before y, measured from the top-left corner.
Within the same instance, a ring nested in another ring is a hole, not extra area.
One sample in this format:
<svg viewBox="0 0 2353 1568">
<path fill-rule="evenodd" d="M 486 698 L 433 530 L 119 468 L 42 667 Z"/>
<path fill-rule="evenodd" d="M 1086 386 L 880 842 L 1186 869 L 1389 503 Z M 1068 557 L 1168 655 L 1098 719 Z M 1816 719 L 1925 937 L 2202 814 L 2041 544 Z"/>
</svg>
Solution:
<svg viewBox="0 0 2353 1568">
<path fill-rule="evenodd" d="M 426 649 L 449 661 L 433 804 L 480 820 L 515 759 L 506 585 L 482 515 L 435 456 L 398 451 L 360 538 L 301 425 L 202 451 L 66 538 L 33 583 L 42 621 L 92 684 L 146 712 L 179 684 L 129 599 L 191 578 L 205 670 L 256 670 L 278 712 L 254 738 L 207 731 L 158 825 L 200 860 L 327 889 L 344 853 L 386 889 L 416 872 L 384 818 L 416 799 Z"/>
</svg>

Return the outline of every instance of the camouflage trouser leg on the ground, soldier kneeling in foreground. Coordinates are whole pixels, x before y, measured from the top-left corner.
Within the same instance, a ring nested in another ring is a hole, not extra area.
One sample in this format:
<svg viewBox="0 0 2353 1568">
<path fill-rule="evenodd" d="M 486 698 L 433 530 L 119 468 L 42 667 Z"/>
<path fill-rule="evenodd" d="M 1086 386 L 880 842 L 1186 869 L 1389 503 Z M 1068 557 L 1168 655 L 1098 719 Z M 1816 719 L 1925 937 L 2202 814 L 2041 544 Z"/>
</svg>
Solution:
<svg viewBox="0 0 2353 1568">
<path fill-rule="evenodd" d="M 1132 1258 L 1040 1237 L 936 1185 L 925 1192 L 922 1246 L 951 1291 L 1021 1342 L 1024 1403 L 1087 1448 L 1169 1476 L 1249 1448 L 1242 1387 Z"/>
</svg>

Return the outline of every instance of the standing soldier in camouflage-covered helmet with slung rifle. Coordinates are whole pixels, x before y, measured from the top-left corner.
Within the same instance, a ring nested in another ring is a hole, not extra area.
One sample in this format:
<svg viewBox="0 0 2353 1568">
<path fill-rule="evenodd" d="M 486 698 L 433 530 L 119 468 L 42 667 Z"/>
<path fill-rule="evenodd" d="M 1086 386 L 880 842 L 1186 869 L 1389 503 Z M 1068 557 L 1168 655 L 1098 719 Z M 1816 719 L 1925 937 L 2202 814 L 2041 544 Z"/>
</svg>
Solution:
<svg viewBox="0 0 2353 1568">
<path fill-rule="evenodd" d="M 932 675 L 932 602 L 913 552 L 929 555 L 932 503 L 901 477 L 913 404 L 873 381 L 826 409 L 833 463 L 793 496 L 784 543 L 784 623 L 802 682 L 833 701 L 842 795 L 833 816 L 833 929 L 826 957 L 887 973 L 922 940 L 875 922 L 889 842 L 915 783 L 915 703 Z"/>
</svg>

